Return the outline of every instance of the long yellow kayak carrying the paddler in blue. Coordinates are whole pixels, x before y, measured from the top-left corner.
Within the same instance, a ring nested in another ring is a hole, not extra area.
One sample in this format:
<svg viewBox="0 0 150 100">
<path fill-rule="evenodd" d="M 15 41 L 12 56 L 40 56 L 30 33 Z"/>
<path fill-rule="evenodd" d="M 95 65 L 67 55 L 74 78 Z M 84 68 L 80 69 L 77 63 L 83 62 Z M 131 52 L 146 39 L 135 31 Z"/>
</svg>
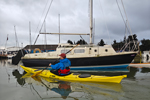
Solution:
<svg viewBox="0 0 150 100">
<path fill-rule="evenodd" d="M 20 65 L 27 73 L 38 73 L 42 70 L 33 69 Z M 44 70 L 39 74 L 42 77 L 48 77 L 53 79 L 58 79 L 62 81 L 78 81 L 78 82 L 112 82 L 120 83 L 123 78 L 126 78 L 127 75 L 120 76 L 98 76 L 98 75 L 89 75 L 89 74 L 74 74 L 71 73 L 66 76 L 58 76 L 50 72 L 50 70 Z"/>
</svg>

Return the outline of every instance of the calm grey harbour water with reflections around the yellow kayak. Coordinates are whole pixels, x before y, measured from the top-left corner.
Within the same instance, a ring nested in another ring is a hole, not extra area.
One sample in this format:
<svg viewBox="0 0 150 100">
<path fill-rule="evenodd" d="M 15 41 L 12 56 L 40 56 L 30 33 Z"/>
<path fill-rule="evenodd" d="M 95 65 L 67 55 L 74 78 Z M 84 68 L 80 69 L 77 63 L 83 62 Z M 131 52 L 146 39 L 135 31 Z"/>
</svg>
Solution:
<svg viewBox="0 0 150 100">
<path fill-rule="evenodd" d="M 149 100 L 150 68 L 130 67 L 124 70 L 103 70 L 99 75 L 127 74 L 120 84 L 69 83 L 55 80 L 21 79 L 24 71 L 0 60 L 0 100 Z"/>
</svg>

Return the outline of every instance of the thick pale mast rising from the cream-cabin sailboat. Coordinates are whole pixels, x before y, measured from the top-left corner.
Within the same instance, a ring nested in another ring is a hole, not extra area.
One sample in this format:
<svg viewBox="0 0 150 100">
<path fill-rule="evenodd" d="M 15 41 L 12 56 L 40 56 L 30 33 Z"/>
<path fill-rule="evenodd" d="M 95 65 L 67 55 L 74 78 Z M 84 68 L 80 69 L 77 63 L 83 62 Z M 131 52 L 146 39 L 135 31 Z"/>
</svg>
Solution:
<svg viewBox="0 0 150 100">
<path fill-rule="evenodd" d="M 92 44 L 93 33 L 93 0 L 90 0 L 90 44 Z"/>
</svg>

